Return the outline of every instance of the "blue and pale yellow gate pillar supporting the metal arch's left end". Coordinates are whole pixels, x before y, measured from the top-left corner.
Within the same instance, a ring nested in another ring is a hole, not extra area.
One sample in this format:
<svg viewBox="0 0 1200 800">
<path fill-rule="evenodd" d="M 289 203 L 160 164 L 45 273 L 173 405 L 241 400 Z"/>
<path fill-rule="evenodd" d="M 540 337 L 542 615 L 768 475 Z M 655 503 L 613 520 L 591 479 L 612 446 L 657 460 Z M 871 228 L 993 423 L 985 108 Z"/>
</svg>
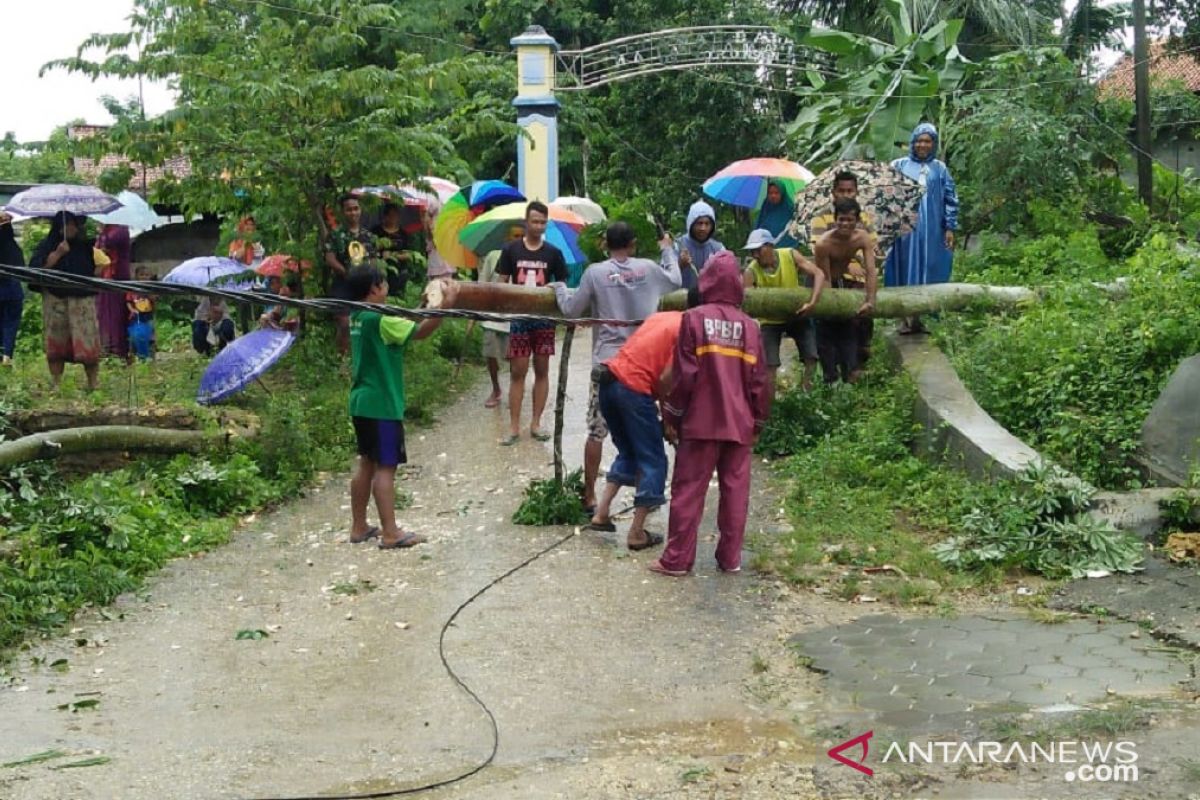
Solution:
<svg viewBox="0 0 1200 800">
<path fill-rule="evenodd" d="M 554 54 L 558 42 L 541 25 L 530 25 L 510 44 L 517 50 L 517 188 L 530 200 L 558 197 L 558 101 Z"/>
</svg>

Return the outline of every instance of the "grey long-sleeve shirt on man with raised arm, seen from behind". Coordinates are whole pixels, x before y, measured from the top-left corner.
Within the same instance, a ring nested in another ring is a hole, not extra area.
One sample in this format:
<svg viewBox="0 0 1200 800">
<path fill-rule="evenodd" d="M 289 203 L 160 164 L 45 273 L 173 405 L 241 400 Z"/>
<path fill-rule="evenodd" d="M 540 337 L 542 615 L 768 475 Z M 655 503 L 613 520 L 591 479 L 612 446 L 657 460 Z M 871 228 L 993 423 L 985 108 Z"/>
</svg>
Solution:
<svg viewBox="0 0 1200 800">
<path fill-rule="evenodd" d="M 673 247 L 662 248 L 658 264 L 648 258 L 623 261 L 610 258 L 593 264 L 583 272 L 580 288 L 574 293 L 565 284 L 556 283 L 558 309 L 566 317 L 582 317 L 590 309 L 601 319 L 646 319 L 659 309 L 659 299 L 674 291 L 683 281 L 679 257 Z M 632 325 L 601 325 L 592 336 L 592 363 L 601 363 L 617 355 L 617 350 L 632 336 Z"/>
</svg>

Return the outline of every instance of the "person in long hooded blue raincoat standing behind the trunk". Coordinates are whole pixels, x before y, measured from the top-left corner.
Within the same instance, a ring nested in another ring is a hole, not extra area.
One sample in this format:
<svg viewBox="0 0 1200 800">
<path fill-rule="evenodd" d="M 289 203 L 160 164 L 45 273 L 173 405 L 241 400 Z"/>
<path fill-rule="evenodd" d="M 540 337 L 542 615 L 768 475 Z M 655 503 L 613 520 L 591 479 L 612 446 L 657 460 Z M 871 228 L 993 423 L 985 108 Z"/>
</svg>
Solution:
<svg viewBox="0 0 1200 800">
<path fill-rule="evenodd" d="M 946 283 L 954 265 L 954 231 L 959 227 L 959 196 L 946 164 L 937 160 L 937 128 L 922 122 L 912 132 L 908 155 L 892 166 L 925 187 L 917 228 L 892 246 L 883 265 L 884 285 Z M 901 333 L 919 333 L 920 318 L 906 319 Z"/>
</svg>

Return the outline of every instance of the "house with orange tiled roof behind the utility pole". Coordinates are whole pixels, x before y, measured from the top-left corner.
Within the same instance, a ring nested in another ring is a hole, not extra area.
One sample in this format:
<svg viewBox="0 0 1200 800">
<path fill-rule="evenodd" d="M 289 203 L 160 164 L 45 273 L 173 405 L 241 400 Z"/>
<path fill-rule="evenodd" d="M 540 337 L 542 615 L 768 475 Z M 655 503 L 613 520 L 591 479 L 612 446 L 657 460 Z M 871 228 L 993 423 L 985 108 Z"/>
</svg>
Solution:
<svg viewBox="0 0 1200 800">
<path fill-rule="evenodd" d="M 1112 65 L 1098 84 L 1100 97 L 1118 97 L 1133 102 L 1134 59 L 1126 55 Z M 1151 102 L 1153 91 L 1159 86 L 1182 86 L 1193 95 L 1200 95 L 1200 61 L 1192 53 L 1169 53 L 1166 41 L 1153 42 L 1150 46 L 1150 84 Z M 1200 120 L 1171 120 L 1187 122 L 1165 127 L 1154 138 L 1151 146 L 1153 157 L 1169 169 L 1181 173 L 1190 168 L 1200 175 L 1200 142 L 1193 133 L 1200 128 Z"/>
</svg>

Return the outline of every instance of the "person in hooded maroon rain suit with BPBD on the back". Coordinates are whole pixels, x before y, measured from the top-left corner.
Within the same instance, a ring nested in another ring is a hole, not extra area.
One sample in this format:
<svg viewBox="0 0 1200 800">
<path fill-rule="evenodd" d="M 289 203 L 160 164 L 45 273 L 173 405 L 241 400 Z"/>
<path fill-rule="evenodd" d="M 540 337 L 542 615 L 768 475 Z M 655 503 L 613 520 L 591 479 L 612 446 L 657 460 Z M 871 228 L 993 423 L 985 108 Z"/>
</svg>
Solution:
<svg viewBox="0 0 1200 800">
<path fill-rule="evenodd" d="M 683 577 L 696 561 L 696 535 L 708 481 L 716 469 L 721 500 L 716 565 L 742 569 L 750 505 L 750 449 L 767 420 L 767 365 L 758 324 L 742 312 L 742 272 L 733 253 L 712 255 L 700 273 L 702 305 L 679 330 L 673 380 L 664 404 L 667 435 L 678 435 L 671 480 L 671 519 L 662 558 L 650 565 Z"/>
</svg>

